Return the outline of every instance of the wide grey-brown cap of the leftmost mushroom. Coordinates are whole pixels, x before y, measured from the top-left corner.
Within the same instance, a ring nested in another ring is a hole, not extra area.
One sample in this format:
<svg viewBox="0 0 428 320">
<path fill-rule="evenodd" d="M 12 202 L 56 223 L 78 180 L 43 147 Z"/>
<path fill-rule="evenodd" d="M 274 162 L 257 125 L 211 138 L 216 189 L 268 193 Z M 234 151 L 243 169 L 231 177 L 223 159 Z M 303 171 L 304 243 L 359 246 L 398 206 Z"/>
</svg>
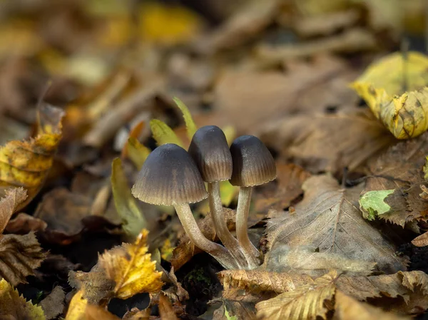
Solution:
<svg viewBox="0 0 428 320">
<path fill-rule="evenodd" d="M 173 143 L 161 145 L 148 155 L 131 191 L 152 205 L 193 203 L 207 197 L 195 162 Z"/>
</svg>

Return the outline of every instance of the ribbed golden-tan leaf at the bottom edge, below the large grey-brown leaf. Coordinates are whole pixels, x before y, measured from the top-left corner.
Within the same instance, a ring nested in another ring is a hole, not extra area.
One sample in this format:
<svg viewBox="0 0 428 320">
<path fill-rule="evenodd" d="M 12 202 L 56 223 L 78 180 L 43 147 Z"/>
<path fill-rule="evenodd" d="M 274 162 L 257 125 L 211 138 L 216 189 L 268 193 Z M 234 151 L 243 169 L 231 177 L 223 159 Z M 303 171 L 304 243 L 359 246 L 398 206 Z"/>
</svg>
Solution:
<svg viewBox="0 0 428 320">
<path fill-rule="evenodd" d="M 335 295 L 336 272 L 330 272 L 315 279 L 312 284 L 305 284 L 293 291 L 275 296 L 255 305 L 257 314 L 264 320 L 315 320 L 318 316 L 326 319 L 325 300 L 332 300 Z"/>
</svg>

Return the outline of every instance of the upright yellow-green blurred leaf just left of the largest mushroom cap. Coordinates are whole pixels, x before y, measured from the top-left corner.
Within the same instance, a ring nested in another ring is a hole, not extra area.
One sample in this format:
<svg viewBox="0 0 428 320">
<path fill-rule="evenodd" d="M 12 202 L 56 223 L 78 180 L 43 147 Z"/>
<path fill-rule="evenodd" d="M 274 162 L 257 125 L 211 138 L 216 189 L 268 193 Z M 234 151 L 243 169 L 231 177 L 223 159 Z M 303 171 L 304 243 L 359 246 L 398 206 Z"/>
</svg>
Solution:
<svg viewBox="0 0 428 320">
<path fill-rule="evenodd" d="M 137 237 L 141 229 L 146 228 L 147 221 L 136 203 L 136 198 L 131 194 L 120 158 L 116 158 L 111 164 L 111 190 L 114 205 L 123 220 L 123 230 L 126 234 Z"/>
</svg>

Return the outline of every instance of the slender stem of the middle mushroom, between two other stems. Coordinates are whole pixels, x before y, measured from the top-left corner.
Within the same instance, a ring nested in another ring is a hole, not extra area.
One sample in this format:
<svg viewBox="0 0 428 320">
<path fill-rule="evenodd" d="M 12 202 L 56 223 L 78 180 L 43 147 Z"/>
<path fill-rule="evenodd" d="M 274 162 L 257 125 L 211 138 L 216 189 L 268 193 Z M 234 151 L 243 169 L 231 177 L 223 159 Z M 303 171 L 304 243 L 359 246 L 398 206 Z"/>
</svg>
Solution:
<svg viewBox="0 0 428 320">
<path fill-rule="evenodd" d="M 243 254 L 243 249 L 240 247 L 238 240 L 230 233 L 225 221 L 223 205 L 220 197 L 220 182 L 215 181 L 208 183 L 208 199 L 215 233 L 218 235 L 226 249 L 228 249 L 230 254 L 235 258 L 236 262 L 240 265 L 240 269 L 247 269 L 248 262 Z"/>
</svg>

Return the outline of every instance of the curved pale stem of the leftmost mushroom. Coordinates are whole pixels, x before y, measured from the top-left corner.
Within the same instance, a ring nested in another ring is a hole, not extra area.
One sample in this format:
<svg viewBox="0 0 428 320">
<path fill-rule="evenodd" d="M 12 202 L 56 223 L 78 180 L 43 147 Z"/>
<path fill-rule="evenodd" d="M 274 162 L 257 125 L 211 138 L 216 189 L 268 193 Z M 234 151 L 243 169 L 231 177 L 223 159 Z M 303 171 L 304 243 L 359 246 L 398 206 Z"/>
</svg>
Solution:
<svg viewBox="0 0 428 320">
<path fill-rule="evenodd" d="M 228 249 L 205 238 L 187 203 L 174 205 L 174 207 L 185 233 L 188 234 L 190 241 L 193 242 L 196 247 L 208 252 L 208 254 L 213 256 L 226 269 L 238 269 L 239 266 L 230 252 L 228 252 Z"/>
</svg>

